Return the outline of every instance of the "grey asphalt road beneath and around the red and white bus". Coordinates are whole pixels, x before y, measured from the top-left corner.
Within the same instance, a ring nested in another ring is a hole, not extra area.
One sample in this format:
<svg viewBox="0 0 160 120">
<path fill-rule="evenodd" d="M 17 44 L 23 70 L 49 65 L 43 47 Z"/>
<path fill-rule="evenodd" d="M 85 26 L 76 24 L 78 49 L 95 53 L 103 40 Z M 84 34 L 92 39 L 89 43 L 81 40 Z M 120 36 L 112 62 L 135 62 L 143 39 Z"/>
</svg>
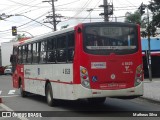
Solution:
<svg viewBox="0 0 160 120">
<path fill-rule="evenodd" d="M 144 111 L 158 111 L 160 115 L 159 103 L 149 102 L 140 98 L 132 100 L 107 98 L 104 105 L 91 105 L 88 104 L 86 100 L 61 100 L 58 106 L 49 107 L 46 103 L 45 97 L 43 96 L 29 95 L 26 98 L 22 98 L 19 95 L 19 90 L 12 87 L 12 80 L 9 75 L 0 76 L 0 97 L 3 100 L 3 104 L 7 106 L 7 111 L 47 111 L 48 114 L 54 114 L 54 116 L 57 117 L 56 119 L 60 119 L 59 117 L 62 117 L 62 119 L 70 120 L 70 117 L 72 119 L 77 117 L 77 120 L 82 120 L 82 117 L 87 117 L 87 120 L 89 120 L 92 116 L 94 116 L 92 117 L 92 120 L 97 120 L 96 117 L 99 117 L 98 120 L 106 120 L 106 117 L 108 116 L 112 116 L 110 120 L 120 119 L 118 116 L 123 116 L 126 119 L 128 111 L 130 111 L 129 114 L 133 112 L 140 113 Z M 124 111 L 126 112 L 126 116 Z M 143 118 L 144 117 L 141 117 L 141 119 Z M 133 119 L 135 120 L 136 118 L 133 117 Z"/>
</svg>

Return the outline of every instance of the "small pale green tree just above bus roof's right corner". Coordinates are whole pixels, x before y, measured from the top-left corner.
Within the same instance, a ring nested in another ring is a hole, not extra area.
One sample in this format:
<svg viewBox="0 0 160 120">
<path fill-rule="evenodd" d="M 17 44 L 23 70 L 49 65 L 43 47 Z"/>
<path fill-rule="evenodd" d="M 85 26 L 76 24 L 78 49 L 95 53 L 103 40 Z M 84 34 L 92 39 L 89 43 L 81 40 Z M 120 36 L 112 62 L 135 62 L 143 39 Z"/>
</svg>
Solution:
<svg viewBox="0 0 160 120">
<path fill-rule="evenodd" d="M 125 22 L 139 24 L 141 27 L 145 27 L 145 22 L 141 20 L 141 14 L 138 11 L 134 13 L 127 12 L 125 16 Z"/>
</svg>

